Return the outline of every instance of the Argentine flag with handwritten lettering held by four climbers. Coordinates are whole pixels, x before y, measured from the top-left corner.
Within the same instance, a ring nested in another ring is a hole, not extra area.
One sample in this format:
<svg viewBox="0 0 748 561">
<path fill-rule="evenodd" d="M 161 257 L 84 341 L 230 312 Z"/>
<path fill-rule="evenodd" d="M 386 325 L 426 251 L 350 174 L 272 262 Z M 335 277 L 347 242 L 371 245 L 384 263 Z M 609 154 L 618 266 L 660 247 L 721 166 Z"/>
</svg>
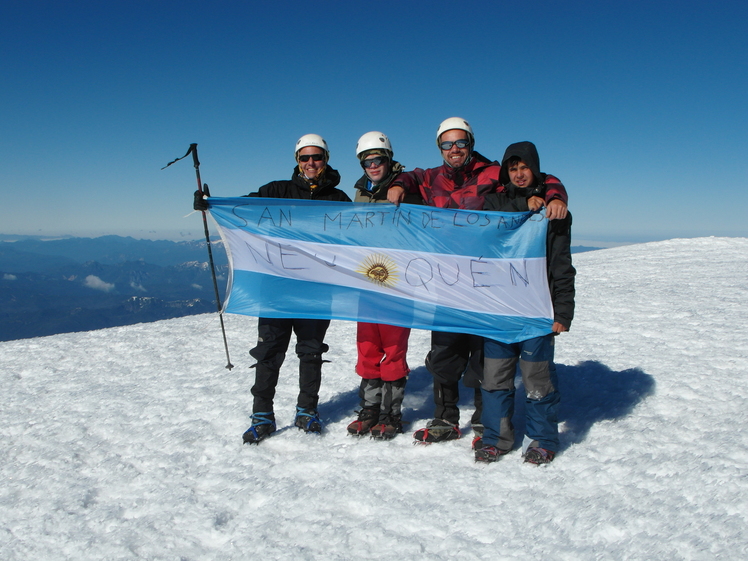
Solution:
<svg viewBox="0 0 748 561">
<path fill-rule="evenodd" d="M 225 312 L 386 323 L 505 343 L 551 332 L 540 213 L 208 202 L 231 267 Z"/>
</svg>

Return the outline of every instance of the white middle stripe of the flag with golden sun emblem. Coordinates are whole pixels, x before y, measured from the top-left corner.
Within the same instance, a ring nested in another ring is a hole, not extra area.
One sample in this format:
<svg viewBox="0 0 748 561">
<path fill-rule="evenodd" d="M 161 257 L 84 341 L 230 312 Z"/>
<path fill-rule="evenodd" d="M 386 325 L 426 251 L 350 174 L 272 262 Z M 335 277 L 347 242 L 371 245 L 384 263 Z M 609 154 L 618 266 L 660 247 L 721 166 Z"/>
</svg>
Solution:
<svg viewBox="0 0 748 561">
<path fill-rule="evenodd" d="M 224 230 L 234 270 L 345 286 L 480 313 L 553 315 L 545 258 L 483 259 Z"/>
</svg>

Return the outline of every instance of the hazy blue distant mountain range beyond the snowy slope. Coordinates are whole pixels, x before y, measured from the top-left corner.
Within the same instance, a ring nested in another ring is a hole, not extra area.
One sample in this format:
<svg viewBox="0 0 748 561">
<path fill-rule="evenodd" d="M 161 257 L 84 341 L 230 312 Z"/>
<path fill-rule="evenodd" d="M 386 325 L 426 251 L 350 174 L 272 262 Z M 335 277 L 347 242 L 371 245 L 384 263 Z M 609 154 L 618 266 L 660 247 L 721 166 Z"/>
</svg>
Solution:
<svg viewBox="0 0 748 561">
<path fill-rule="evenodd" d="M 211 247 L 223 301 L 228 259 L 220 239 Z M 216 310 L 204 240 L 0 234 L 0 341 Z"/>
</svg>

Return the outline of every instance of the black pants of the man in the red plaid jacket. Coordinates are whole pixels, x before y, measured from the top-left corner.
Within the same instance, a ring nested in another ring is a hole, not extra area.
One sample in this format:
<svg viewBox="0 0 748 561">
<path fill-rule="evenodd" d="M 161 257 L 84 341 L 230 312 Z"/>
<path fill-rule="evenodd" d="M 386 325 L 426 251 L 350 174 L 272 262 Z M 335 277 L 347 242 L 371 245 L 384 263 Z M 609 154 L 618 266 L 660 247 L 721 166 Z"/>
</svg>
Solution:
<svg viewBox="0 0 748 561">
<path fill-rule="evenodd" d="M 454 424 L 460 421 L 458 382 L 474 389 L 475 414 L 471 422 L 480 423 L 480 380 L 483 377 L 483 337 L 466 333 L 431 332 L 431 350 L 426 368 L 434 377 L 434 418 Z"/>
</svg>

